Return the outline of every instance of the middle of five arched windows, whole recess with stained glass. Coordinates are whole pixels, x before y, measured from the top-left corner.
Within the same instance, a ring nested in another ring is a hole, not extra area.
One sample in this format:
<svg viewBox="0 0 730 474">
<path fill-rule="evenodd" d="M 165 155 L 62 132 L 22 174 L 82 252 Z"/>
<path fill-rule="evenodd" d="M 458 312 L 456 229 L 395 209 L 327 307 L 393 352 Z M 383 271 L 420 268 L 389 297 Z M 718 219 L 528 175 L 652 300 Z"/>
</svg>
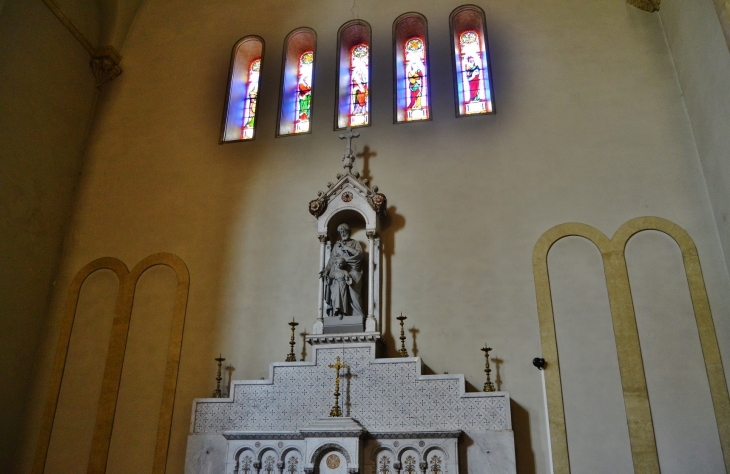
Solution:
<svg viewBox="0 0 730 474">
<path fill-rule="evenodd" d="M 362 20 L 345 23 L 337 44 L 335 130 L 370 125 L 370 25 Z"/>
</svg>

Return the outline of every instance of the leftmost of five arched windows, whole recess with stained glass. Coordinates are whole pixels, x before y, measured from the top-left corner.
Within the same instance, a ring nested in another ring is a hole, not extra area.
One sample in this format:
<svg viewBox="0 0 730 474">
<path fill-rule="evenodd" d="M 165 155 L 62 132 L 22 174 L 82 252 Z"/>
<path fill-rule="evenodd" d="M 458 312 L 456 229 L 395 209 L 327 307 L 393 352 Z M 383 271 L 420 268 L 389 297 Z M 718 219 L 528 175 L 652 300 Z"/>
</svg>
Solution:
<svg viewBox="0 0 730 474">
<path fill-rule="evenodd" d="M 253 140 L 264 40 L 246 36 L 233 46 L 221 142 Z"/>
</svg>

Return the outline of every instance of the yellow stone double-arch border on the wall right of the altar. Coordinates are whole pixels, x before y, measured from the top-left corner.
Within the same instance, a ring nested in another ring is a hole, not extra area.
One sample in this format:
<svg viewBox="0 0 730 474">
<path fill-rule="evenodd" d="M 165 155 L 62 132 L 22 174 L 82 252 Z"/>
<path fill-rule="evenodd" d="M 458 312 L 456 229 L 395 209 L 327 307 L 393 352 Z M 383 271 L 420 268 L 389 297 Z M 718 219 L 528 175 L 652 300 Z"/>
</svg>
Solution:
<svg viewBox="0 0 730 474">
<path fill-rule="evenodd" d="M 677 242 L 682 251 L 725 460 L 725 470 L 730 472 L 730 397 L 697 248 L 689 234 L 673 222 L 660 217 L 639 217 L 619 227 L 611 240 L 595 227 L 580 223 L 567 223 L 549 229 L 535 244 L 532 265 L 540 321 L 540 339 L 543 357 L 547 362 L 545 391 L 555 474 L 570 473 L 570 462 L 547 256 L 555 242 L 568 236 L 590 240 L 598 247 L 603 257 L 634 471 L 642 474 L 660 472 L 649 394 L 644 376 L 644 363 L 641 357 L 641 345 L 624 255 L 628 240 L 644 230 L 657 230 L 667 234 Z"/>
</svg>

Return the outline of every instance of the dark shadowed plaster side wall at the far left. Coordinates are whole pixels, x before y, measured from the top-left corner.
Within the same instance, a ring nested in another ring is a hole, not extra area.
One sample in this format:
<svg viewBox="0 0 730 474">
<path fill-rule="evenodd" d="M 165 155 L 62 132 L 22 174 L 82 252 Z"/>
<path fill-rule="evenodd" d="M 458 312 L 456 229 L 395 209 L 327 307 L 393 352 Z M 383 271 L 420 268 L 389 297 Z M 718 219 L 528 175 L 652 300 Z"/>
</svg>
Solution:
<svg viewBox="0 0 730 474">
<path fill-rule="evenodd" d="M 42 2 L 0 10 L 0 466 L 11 469 L 96 89 L 86 51 Z"/>
</svg>

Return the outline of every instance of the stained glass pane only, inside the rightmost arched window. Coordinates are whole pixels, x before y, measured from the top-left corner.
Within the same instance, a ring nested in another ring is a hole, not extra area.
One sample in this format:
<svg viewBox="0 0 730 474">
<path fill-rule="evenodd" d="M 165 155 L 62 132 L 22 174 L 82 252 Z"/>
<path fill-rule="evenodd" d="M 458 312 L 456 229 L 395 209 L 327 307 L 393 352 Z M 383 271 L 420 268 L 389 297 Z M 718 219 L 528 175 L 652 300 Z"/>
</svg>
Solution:
<svg viewBox="0 0 730 474">
<path fill-rule="evenodd" d="M 489 69 L 483 39 L 476 31 L 459 35 L 459 96 L 463 114 L 492 111 Z"/>
</svg>

